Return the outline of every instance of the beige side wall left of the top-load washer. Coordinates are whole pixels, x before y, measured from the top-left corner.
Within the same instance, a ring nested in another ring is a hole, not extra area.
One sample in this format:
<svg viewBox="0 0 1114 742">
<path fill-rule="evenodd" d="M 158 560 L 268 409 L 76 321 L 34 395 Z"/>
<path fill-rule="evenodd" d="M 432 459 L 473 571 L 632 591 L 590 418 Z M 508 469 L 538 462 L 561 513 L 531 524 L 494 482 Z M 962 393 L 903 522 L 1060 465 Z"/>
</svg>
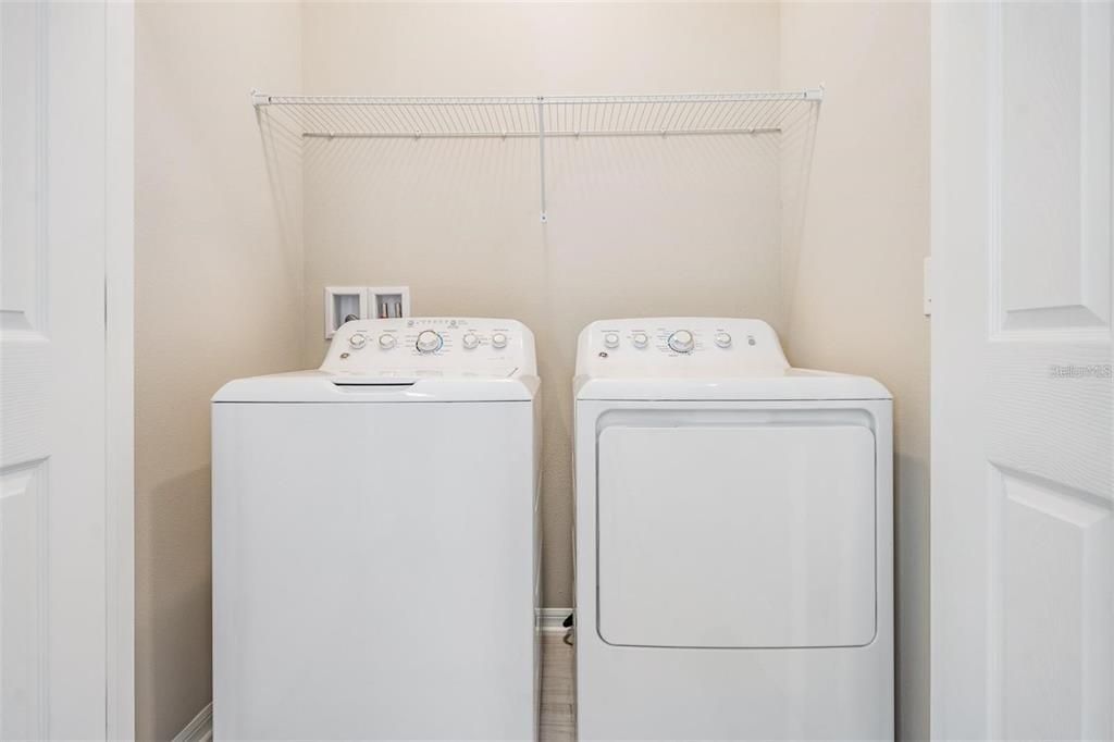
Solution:
<svg viewBox="0 0 1114 742">
<path fill-rule="evenodd" d="M 212 697 L 208 398 L 301 363 L 301 179 L 270 177 L 247 98 L 252 86 L 300 88 L 300 16 L 280 3 L 136 8 L 141 740 L 173 738 Z"/>
</svg>

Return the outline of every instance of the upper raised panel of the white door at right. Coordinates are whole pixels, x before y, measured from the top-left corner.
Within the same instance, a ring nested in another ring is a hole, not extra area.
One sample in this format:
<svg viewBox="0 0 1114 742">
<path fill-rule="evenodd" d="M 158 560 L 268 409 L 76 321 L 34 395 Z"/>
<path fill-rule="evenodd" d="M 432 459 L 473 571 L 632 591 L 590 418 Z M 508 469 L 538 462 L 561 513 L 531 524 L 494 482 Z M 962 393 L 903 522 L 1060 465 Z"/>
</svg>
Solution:
<svg viewBox="0 0 1114 742">
<path fill-rule="evenodd" d="M 1111 7 L 1017 3 L 988 12 L 991 338 L 1069 333 L 1108 342 Z M 1039 22 L 1023 22 L 1033 17 Z M 1042 43 L 1045 36 L 1057 42 Z M 1044 248 L 1051 244 L 1057 250 Z"/>
</svg>

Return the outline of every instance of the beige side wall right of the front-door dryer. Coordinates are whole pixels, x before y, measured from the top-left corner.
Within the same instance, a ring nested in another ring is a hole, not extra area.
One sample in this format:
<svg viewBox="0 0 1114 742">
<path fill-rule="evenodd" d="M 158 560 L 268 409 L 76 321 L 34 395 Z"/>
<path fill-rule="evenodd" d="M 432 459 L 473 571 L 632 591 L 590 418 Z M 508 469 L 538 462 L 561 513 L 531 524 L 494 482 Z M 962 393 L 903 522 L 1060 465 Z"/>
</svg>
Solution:
<svg viewBox="0 0 1114 742">
<path fill-rule="evenodd" d="M 929 9 L 791 3 L 781 28 L 782 85 L 828 89 L 803 221 L 785 230 L 784 340 L 795 365 L 873 375 L 893 393 L 899 720 L 903 739 L 925 739 Z"/>
</svg>

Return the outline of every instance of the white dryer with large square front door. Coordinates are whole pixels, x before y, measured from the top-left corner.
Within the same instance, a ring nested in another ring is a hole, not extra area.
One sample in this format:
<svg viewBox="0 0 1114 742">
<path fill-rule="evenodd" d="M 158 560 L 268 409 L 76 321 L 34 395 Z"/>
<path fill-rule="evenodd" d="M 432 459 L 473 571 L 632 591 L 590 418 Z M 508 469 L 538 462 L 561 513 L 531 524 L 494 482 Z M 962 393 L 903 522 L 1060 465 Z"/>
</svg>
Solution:
<svg viewBox="0 0 1114 742">
<path fill-rule="evenodd" d="M 595 322 L 576 373 L 579 739 L 892 739 L 889 392 L 755 320 Z"/>
</svg>

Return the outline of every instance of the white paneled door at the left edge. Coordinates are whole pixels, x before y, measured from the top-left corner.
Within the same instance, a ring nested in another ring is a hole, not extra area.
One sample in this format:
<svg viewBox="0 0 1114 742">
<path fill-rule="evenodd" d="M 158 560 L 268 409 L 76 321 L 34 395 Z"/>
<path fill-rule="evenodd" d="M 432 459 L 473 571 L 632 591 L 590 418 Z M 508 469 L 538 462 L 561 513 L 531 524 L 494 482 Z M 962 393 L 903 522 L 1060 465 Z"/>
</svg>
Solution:
<svg viewBox="0 0 1114 742">
<path fill-rule="evenodd" d="M 0 738 L 106 732 L 104 3 L 3 3 Z"/>
</svg>

